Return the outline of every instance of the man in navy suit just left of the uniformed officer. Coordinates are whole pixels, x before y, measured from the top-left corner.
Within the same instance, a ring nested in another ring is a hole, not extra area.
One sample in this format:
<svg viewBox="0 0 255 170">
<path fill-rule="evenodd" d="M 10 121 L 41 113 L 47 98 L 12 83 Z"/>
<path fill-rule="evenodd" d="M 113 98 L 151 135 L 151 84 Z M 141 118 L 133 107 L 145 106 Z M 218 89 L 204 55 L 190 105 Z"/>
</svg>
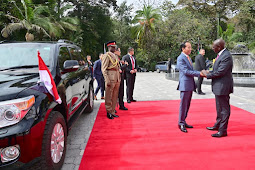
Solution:
<svg viewBox="0 0 255 170">
<path fill-rule="evenodd" d="M 97 80 L 97 88 L 95 91 L 95 99 L 97 100 L 97 93 L 99 89 L 101 90 L 101 99 L 104 99 L 104 76 L 101 70 L 101 60 L 102 60 L 103 54 L 99 54 L 99 59 L 95 61 L 94 69 L 93 69 L 93 75 L 95 79 Z"/>
</svg>

